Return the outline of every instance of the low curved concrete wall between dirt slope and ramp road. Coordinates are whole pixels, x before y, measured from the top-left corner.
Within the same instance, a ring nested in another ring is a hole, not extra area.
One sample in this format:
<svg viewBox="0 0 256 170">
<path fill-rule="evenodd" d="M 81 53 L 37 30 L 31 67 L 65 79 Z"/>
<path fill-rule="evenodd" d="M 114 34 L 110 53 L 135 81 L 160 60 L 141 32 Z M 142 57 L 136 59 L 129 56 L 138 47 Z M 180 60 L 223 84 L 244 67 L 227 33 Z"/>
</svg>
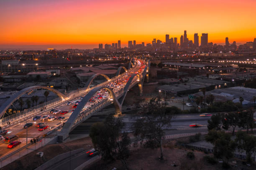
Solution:
<svg viewBox="0 0 256 170">
<path fill-rule="evenodd" d="M 35 170 L 48 170 L 51 166 L 53 166 L 56 163 L 59 163 L 61 160 L 69 158 L 70 156 L 75 155 L 77 153 L 81 153 L 82 151 L 84 151 L 84 148 L 80 148 L 80 149 L 77 149 L 77 150 L 72 150 L 71 154 L 70 154 L 70 152 L 66 152 L 66 153 L 62 153 L 60 155 L 57 155 L 56 157 L 52 158 L 51 160 L 48 160 L 46 163 L 39 166 Z"/>
</svg>

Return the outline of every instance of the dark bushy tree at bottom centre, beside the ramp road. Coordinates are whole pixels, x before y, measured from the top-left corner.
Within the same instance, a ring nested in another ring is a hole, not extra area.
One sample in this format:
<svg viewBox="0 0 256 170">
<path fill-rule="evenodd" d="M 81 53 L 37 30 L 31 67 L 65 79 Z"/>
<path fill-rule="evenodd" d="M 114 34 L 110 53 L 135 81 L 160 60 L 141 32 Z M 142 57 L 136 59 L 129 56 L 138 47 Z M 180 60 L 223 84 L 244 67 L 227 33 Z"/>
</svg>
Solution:
<svg viewBox="0 0 256 170">
<path fill-rule="evenodd" d="M 128 169 L 127 159 L 130 155 L 131 139 L 128 133 L 122 133 L 124 123 L 121 117 L 108 116 L 97 122 L 90 129 L 92 143 L 100 151 L 102 160 L 120 160 Z"/>
</svg>

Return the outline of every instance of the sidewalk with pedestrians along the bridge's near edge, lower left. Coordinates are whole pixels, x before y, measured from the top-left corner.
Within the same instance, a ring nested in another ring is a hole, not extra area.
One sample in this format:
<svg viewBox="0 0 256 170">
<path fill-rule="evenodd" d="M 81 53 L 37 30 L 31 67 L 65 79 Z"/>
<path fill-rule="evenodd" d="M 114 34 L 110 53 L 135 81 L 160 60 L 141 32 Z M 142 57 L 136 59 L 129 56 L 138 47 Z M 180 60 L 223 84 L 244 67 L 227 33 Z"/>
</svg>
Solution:
<svg viewBox="0 0 256 170">
<path fill-rule="evenodd" d="M 12 163 L 13 161 L 23 157 L 24 155 L 33 152 L 34 150 L 41 148 L 42 146 L 47 145 L 52 140 L 52 138 L 42 138 L 41 140 L 38 140 L 36 144 L 30 144 L 30 140 L 28 140 L 28 148 L 25 148 L 23 150 L 20 150 L 18 153 L 15 153 L 11 155 L 9 158 L 6 158 L 0 163 L 0 168 L 4 167 L 5 165 L 8 165 L 9 163 Z M 20 146 L 21 147 L 21 146 Z"/>
</svg>

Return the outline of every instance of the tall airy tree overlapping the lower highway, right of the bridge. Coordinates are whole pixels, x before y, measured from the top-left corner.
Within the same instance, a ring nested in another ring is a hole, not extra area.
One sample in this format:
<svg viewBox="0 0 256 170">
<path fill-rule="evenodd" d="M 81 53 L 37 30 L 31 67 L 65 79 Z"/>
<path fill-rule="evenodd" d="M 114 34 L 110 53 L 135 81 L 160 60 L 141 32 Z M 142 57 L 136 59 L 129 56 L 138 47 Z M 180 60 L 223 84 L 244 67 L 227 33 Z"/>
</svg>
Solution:
<svg viewBox="0 0 256 170">
<path fill-rule="evenodd" d="M 136 144 L 140 142 L 146 148 L 160 148 L 160 160 L 164 158 L 162 143 L 164 140 L 164 129 L 170 127 L 172 117 L 166 113 L 166 103 L 151 98 L 148 102 L 141 104 L 143 118 L 136 120 L 133 124 L 133 134 Z"/>
</svg>

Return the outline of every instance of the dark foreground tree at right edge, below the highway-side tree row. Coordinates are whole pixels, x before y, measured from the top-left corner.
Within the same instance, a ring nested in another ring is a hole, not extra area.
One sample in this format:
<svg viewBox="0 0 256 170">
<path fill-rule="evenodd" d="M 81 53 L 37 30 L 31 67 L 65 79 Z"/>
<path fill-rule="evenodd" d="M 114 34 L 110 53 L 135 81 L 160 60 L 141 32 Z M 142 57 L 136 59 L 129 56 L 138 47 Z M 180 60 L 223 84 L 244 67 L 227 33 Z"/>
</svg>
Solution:
<svg viewBox="0 0 256 170">
<path fill-rule="evenodd" d="M 246 152 L 246 160 L 251 162 L 251 155 L 256 150 L 256 136 L 248 135 L 243 131 L 236 133 L 235 139 L 238 150 L 244 150 Z"/>
</svg>

